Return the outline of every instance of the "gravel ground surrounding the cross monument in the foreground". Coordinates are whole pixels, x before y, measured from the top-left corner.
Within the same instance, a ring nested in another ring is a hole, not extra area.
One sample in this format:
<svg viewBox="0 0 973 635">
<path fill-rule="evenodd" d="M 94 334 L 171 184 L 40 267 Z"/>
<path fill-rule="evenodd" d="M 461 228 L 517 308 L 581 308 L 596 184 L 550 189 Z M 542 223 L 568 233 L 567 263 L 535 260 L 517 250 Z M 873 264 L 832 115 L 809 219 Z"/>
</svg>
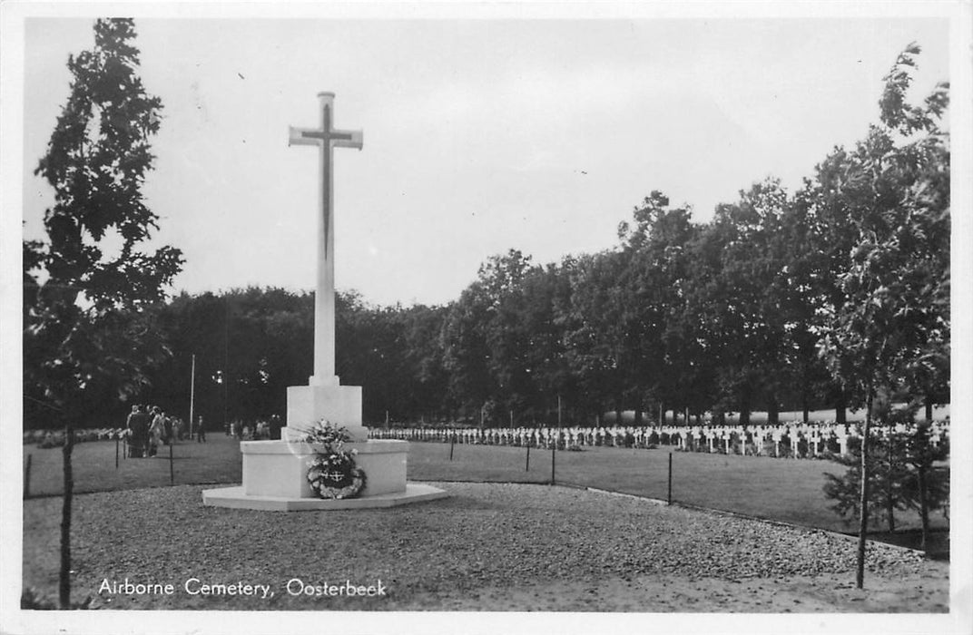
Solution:
<svg viewBox="0 0 973 635">
<path fill-rule="evenodd" d="M 207 508 L 198 486 L 78 496 L 73 597 L 101 609 L 949 610 L 948 565 L 907 549 L 870 543 L 859 591 L 847 537 L 576 489 L 432 484 L 450 498 L 358 512 Z M 55 597 L 60 500 L 23 509 L 24 584 Z M 103 588 L 126 579 L 173 590 Z M 346 581 L 383 592 L 289 592 Z M 190 592 L 236 582 L 267 596 Z"/>
</svg>

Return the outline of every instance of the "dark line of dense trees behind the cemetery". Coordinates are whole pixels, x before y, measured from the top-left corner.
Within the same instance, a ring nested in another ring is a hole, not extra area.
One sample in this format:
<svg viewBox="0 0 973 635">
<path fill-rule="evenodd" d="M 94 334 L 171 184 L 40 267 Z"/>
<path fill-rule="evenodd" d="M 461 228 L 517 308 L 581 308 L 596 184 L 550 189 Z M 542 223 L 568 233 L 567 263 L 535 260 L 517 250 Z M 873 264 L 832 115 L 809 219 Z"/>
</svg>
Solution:
<svg viewBox="0 0 973 635">
<path fill-rule="evenodd" d="M 796 192 L 768 179 L 707 223 L 652 192 L 615 248 L 549 265 L 512 249 L 445 306 L 340 293 L 342 383 L 364 387 L 372 424 L 547 423 L 559 398 L 565 421 L 633 409 L 642 422 L 665 408 L 742 422 L 766 410 L 775 422 L 783 409 L 824 407 L 843 421 L 880 383 L 927 407 L 946 401 L 948 88 L 909 103 L 917 53 L 885 78 L 880 123 Z M 246 289 L 141 310 L 170 355 L 145 358 L 134 399 L 188 412 L 195 354 L 207 421 L 283 413 L 285 388 L 311 372 L 311 300 Z M 107 388 L 93 395 L 92 417 L 108 417 Z M 26 407 L 44 421 L 43 406 Z"/>
</svg>

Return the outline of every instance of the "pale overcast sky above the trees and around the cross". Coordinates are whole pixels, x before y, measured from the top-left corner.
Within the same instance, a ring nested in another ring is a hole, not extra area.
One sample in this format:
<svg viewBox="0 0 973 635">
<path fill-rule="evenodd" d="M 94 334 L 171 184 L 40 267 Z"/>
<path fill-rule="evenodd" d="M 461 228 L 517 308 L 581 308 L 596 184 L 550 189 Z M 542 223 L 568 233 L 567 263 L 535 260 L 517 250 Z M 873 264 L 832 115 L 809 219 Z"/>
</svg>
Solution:
<svg viewBox="0 0 973 635">
<path fill-rule="evenodd" d="M 880 5 L 881 6 L 881 5 Z M 66 100 L 90 18 L 24 34 L 24 233 L 49 186 L 31 175 Z M 175 291 L 314 284 L 317 153 L 336 126 L 336 277 L 366 300 L 442 303 L 493 254 L 536 263 L 617 243 L 652 190 L 708 220 L 768 176 L 795 188 L 878 121 L 883 75 L 922 47 L 915 95 L 949 79 L 935 18 L 136 18 L 140 75 L 162 98 L 144 194 Z"/>
</svg>

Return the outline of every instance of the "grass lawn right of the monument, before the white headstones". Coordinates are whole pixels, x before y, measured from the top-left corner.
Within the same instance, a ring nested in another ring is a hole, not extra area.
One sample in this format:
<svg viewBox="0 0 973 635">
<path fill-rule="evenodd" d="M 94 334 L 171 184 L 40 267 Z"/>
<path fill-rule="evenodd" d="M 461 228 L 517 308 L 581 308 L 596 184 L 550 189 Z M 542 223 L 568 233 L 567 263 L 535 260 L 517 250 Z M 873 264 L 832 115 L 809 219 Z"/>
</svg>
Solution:
<svg viewBox="0 0 973 635">
<path fill-rule="evenodd" d="M 667 446 L 654 450 L 591 447 L 581 452 L 558 452 L 555 481 L 614 492 L 667 498 Z M 500 480 L 549 482 L 551 451 L 495 445 L 453 447 L 449 443 L 413 443 L 409 477 L 415 480 Z M 761 456 L 672 452 L 672 500 L 703 508 L 736 512 L 831 531 L 854 532 L 829 508 L 822 487 L 824 474 L 842 474 L 837 463 L 813 459 L 773 459 Z M 949 522 L 942 514 L 930 517 L 934 528 Z M 884 527 L 873 518 L 871 526 Z M 919 514 L 896 512 L 896 529 L 919 527 Z"/>
</svg>

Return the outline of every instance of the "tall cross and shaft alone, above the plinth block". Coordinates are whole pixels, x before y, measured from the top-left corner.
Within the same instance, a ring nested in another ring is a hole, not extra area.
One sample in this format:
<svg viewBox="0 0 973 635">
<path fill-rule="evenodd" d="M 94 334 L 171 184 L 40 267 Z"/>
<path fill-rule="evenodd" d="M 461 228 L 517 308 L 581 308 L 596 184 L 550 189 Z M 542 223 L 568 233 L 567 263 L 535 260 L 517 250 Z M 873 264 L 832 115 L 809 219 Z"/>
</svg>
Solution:
<svg viewBox="0 0 973 635">
<path fill-rule="evenodd" d="M 335 93 L 319 92 L 321 128 L 291 126 L 289 146 L 318 146 L 321 154 L 317 218 L 317 287 L 314 295 L 314 374 L 311 385 L 337 384 L 335 375 L 335 147 L 362 148 L 360 130 L 336 130 Z"/>
</svg>

